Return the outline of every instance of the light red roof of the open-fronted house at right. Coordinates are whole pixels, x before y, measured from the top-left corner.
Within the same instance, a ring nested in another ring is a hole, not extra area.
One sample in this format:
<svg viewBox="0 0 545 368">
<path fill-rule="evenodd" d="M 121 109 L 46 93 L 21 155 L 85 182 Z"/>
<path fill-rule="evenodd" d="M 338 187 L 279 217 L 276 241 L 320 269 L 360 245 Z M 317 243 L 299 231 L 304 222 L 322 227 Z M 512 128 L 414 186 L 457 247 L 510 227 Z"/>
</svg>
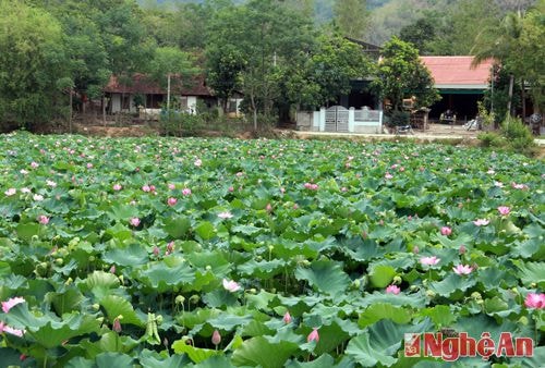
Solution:
<svg viewBox="0 0 545 368">
<path fill-rule="evenodd" d="M 471 68 L 473 57 L 421 57 L 435 79 L 436 88 L 485 89 L 493 60 Z"/>
</svg>

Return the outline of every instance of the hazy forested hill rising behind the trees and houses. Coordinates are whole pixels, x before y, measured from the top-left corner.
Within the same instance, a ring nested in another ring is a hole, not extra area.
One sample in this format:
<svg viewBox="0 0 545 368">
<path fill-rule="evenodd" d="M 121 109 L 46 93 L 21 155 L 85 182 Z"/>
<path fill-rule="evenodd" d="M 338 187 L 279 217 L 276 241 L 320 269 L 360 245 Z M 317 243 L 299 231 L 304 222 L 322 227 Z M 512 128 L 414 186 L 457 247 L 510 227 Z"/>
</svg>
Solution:
<svg viewBox="0 0 545 368">
<path fill-rule="evenodd" d="M 173 7 L 189 3 L 213 3 L 209 0 L 138 0 L 144 8 L 154 7 Z M 244 3 L 247 0 L 232 0 L 233 3 Z M 335 17 L 335 5 L 340 0 L 283 0 L 282 2 L 310 2 L 313 3 L 314 19 L 317 24 L 327 24 Z M 452 17 L 459 17 L 462 27 L 482 27 L 482 22 L 470 22 L 476 20 L 474 16 L 481 11 L 488 11 L 494 8 L 499 10 L 497 16 L 505 15 L 508 11 L 524 10 L 535 0 L 486 0 L 486 1 L 471 1 L 471 0 L 354 0 L 344 2 L 360 2 L 365 3 L 368 11 L 367 17 L 367 33 L 364 37 L 366 41 L 376 45 L 383 45 L 392 35 L 399 35 L 403 27 L 415 24 L 421 19 L 433 20 L 435 25 L 448 26 L 448 22 Z M 483 3 L 488 3 L 489 7 Z M 477 9 L 480 8 L 480 9 Z M 489 15 L 489 14 L 488 14 Z M 485 16 L 486 17 L 486 16 Z M 468 25 L 463 24 L 464 20 Z M 435 33 L 435 32 L 433 32 Z M 463 34 L 463 33 L 462 33 Z M 460 40 L 464 42 L 464 36 L 461 35 Z M 473 41 L 473 40 L 471 40 Z M 464 45 L 458 50 L 467 49 Z M 446 53 L 457 53 L 453 52 Z M 431 51 L 434 53 L 435 51 Z M 445 50 L 437 50 L 437 52 L 445 52 Z"/>
</svg>

